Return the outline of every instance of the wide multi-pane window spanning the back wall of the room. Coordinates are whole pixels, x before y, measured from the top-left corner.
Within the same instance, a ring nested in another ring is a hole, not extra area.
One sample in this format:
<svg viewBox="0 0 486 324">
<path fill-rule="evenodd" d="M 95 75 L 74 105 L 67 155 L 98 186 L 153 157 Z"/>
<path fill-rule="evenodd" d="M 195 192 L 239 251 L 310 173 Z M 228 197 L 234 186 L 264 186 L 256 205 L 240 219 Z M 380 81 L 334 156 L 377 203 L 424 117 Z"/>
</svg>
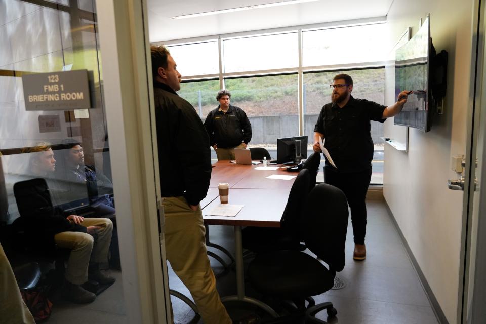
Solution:
<svg viewBox="0 0 486 324">
<path fill-rule="evenodd" d="M 205 119 L 218 106 L 215 97 L 223 84 L 231 91 L 231 104 L 245 110 L 252 123 L 250 147 L 263 146 L 275 157 L 277 138 L 307 135 L 310 154 L 314 125 L 322 106 L 330 102 L 329 84 L 334 75 L 344 72 L 353 77 L 354 97 L 384 103 L 381 62 L 391 48 L 383 42 L 385 26 L 380 22 L 312 30 L 289 28 L 279 33 L 220 35 L 218 41 L 170 46 L 185 78 L 179 95 Z M 382 136 L 383 124 L 373 121 L 372 183 L 383 181 Z M 213 157 L 216 159 L 215 154 Z M 318 179 L 322 181 L 321 176 Z"/>
</svg>

